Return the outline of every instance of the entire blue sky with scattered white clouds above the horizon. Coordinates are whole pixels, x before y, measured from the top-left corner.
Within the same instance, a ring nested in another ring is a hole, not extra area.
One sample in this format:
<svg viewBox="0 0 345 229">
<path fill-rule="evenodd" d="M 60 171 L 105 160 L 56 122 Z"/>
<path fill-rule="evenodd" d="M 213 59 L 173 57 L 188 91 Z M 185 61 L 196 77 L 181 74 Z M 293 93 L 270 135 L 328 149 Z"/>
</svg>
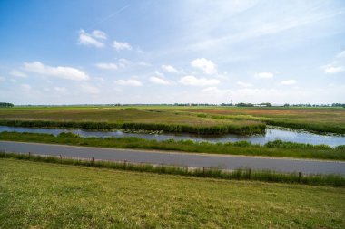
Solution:
<svg viewBox="0 0 345 229">
<path fill-rule="evenodd" d="M 345 103 L 343 0 L 0 0 L 0 101 Z"/>
</svg>

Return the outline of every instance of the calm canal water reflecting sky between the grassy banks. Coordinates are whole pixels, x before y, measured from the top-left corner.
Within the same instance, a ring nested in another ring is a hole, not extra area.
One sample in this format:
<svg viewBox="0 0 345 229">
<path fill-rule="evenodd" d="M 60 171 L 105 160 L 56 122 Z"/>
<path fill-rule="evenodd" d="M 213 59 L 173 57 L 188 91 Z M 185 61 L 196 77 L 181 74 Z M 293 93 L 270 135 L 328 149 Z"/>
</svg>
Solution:
<svg viewBox="0 0 345 229">
<path fill-rule="evenodd" d="M 147 133 L 124 133 L 120 130 L 115 131 L 92 131 L 85 129 L 44 129 L 44 128 L 16 128 L 16 127 L 6 127 L 0 126 L 0 132 L 4 131 L 15 131 L 15 132 L 31 132 L 31 133 L 45 133 L 58 135 L 62 132 L 72 132 L 78 134 L 82 137 L 137 137 L 145 139 L 156 139 L 156 140 L 166 140 L 166 139 L 192 139 L 194 141 L 210 141 L 210 142 L 229 142 L 229 141 L 250 141 L 251 143 L 265 144 L 272 140 L 283 140 L 283 141 L 293 141 L 299 143 L 310 143 L 313 145 L 326 144 L 331 147 L 336 147 L 339 145 L 345 145 L 345 136 L 332 136 L 332 135 L 319 135 L 306 131 L 296 131 L 293 129 L 266 129 L 265 135 L 254 135 L 254 136 L 240 136 L 240 135 L 222 135 L 216 137 L 210 136 L 197 136 L 191 134 L 173 134 L 173 133 L 163 133 L 163 134 L 147 134 Z"/>
</svg>

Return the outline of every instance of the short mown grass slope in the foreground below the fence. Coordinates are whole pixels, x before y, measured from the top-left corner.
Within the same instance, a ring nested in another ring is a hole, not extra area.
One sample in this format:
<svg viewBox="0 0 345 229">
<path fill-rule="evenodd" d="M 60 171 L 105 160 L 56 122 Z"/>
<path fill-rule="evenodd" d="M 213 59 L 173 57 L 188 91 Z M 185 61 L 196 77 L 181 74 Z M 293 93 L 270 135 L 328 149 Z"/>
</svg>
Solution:
<svg viewBox="0 0 345 229">
<path fill-rule="evenodd" d="M 344 188 L 0 160 L 1 228 L 343 228 Z"/>
</svg>

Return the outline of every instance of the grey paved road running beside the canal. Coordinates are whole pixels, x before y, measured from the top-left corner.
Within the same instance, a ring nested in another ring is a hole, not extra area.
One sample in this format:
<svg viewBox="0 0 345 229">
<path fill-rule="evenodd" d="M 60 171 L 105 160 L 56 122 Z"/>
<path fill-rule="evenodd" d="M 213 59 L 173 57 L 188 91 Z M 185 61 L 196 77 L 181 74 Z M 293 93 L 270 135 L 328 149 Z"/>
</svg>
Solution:
<svg viewBox="0 0 345 229">
<path fill-rule="evenodd" d="M 345 162 L 290 159 L 279 157 L 222 156 L 211 154 L 148 151 L 116 148 L 88 148 L 39 143 L 0 141 L 0 150 L 42 155 L 62 155 L 103 160 L 127 160 L 134 163 L 169 164 L 188 167 L 220 167 L 222 169 L 251 168 L 304 174 L 345 175 Z"/>
</svg>

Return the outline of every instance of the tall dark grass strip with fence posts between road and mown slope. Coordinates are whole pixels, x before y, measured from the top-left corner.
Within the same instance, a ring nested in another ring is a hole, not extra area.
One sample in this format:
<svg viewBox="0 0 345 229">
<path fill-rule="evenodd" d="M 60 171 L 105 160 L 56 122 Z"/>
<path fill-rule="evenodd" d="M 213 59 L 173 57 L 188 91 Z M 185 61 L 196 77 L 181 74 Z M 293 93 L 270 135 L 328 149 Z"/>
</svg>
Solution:
<svg viewBox="0 0 345 229">
<path fill-rule="evenodd" d="M 345 186 L 345 177 L 340 175 L 303 175 L 300 173 L 277 173 L 269 170 L 236 169 L 225 171 L 214 167 L 175 167 L 167 165 L 133 164 L 127 161 L 113 162 L 92 159 L 76 159 L 70 157 L 41 156 L 18 153 L 0 152 L 0 158 L 15 158 L 64 165 L 103 167 L 118 170 L 171 174 L 188 177 L 212 177 L 220 179 L 255 180 L 276 183 L 299 183 L 315 186 Z"/>
</svg>

